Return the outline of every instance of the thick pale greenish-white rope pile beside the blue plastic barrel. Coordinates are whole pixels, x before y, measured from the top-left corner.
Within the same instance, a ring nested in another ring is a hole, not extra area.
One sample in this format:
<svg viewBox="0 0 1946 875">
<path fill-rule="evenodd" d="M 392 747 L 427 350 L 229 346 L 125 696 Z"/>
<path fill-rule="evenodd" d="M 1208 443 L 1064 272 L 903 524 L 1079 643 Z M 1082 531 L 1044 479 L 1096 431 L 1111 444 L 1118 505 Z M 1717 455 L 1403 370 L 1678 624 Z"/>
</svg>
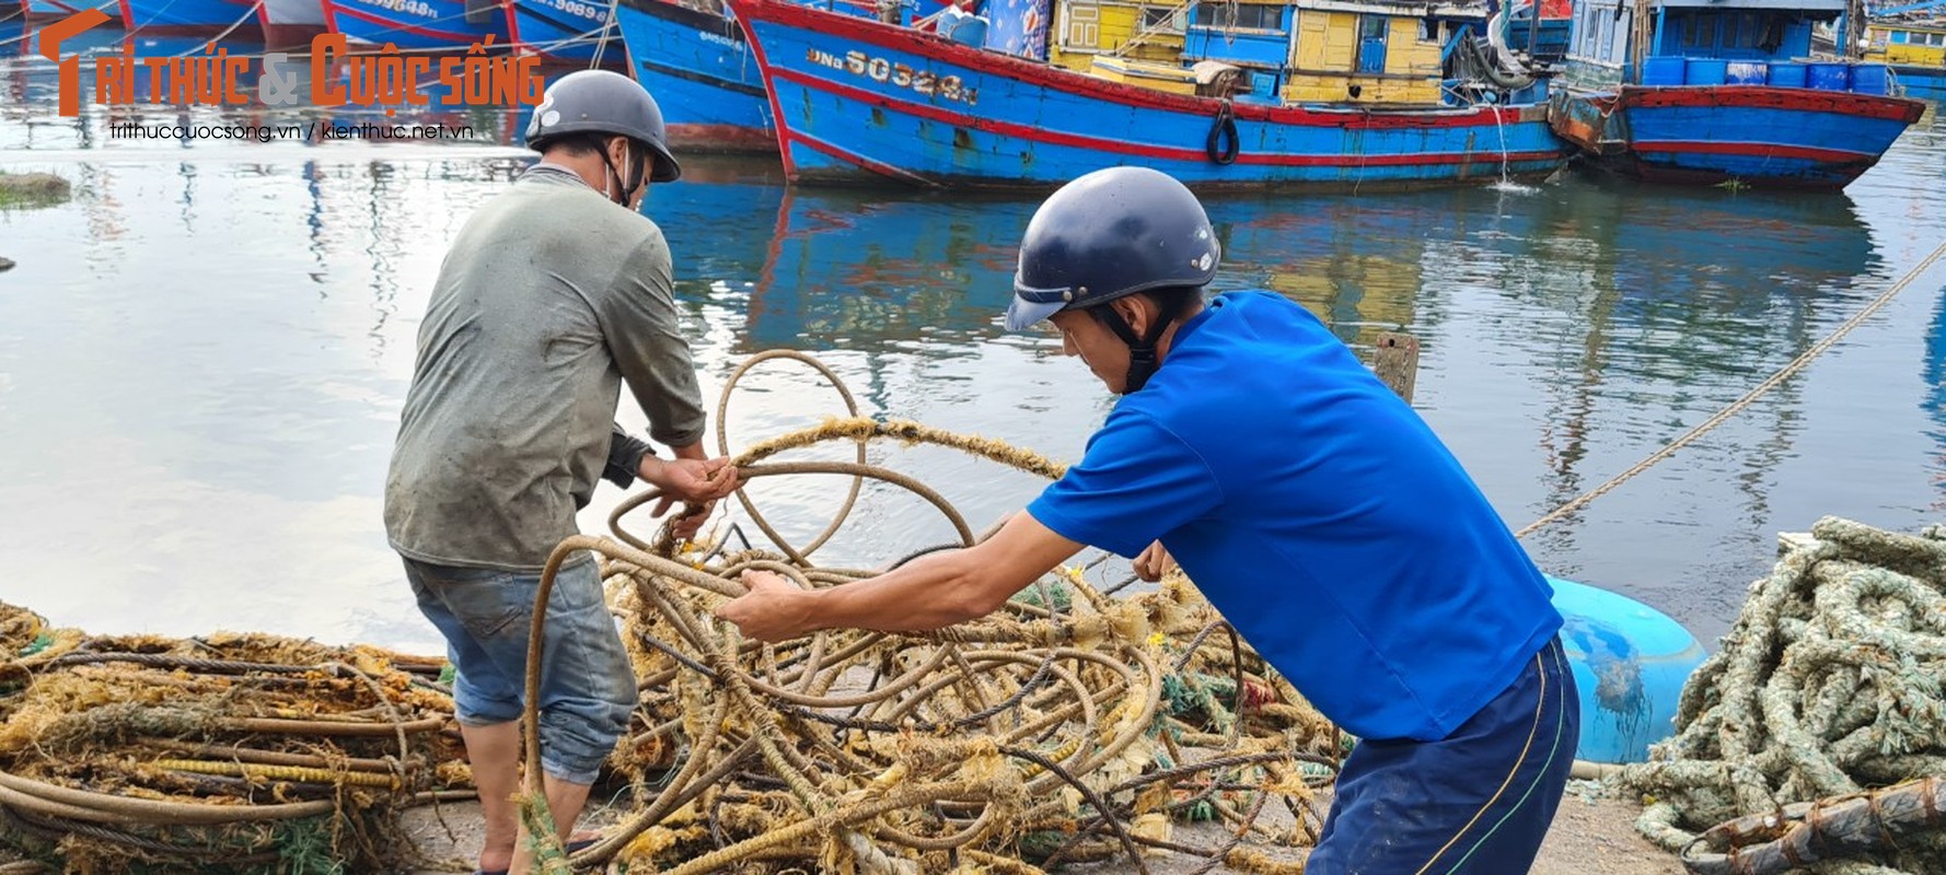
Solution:
<svg viewBox="0 0 1946 875">
<path fill-rule="evenodd" d="M 1619 782 L 1656 799 L 1639 828 L 1695 873 L 1946 871 L 1946 529 L 1812 535 Z"/>
</svg>

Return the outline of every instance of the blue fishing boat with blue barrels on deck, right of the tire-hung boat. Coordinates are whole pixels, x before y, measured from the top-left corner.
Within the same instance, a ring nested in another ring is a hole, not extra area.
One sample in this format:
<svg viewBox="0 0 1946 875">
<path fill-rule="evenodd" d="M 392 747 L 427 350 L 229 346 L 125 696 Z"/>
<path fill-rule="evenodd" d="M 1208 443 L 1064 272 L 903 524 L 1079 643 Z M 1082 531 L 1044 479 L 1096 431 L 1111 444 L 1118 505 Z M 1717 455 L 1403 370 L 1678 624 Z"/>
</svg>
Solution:
<svg viewBox="0 0 1946 875">
<path fill-rule="evenodd" d="M 1650 181 L 1843 189 L 1925 109 L 1890 93 L 1884 64 L 1810 58 L 1814 21 L 1845 2 L 1574 0 L 1555 130 Z"/>
</svg>

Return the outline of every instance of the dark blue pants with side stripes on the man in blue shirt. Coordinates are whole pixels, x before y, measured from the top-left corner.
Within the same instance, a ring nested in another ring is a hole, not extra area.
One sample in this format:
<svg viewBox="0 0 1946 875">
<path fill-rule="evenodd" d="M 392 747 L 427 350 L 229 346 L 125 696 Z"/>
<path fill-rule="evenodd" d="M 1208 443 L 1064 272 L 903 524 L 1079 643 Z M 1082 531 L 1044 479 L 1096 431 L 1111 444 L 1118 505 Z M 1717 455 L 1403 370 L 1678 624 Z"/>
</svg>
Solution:
<svg viewBox="0 0 1946 875">
<path fill-rule="evenodd" d="M 1506 692 L 1440 741 L 1362 741 L 1345 760 L 1306 875 L 1522 875 L 1580 739 L 1555 638 Z"/>
</svg>

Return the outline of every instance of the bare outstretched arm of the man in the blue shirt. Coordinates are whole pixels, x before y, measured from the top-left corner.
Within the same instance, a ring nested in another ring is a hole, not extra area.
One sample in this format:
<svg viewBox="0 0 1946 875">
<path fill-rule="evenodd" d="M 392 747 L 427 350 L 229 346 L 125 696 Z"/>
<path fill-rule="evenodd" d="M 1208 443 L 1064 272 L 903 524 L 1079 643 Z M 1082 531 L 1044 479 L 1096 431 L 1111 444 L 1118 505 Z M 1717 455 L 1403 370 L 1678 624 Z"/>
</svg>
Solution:
<svg viewBox="0 0 1946 875">
<path fill-rule="evenodd" d="M 998 611 L 1080 548 L 1033 515 L 1014 513 L 975 546 L 922 556 L 856 583 L 806 591 L 771 572 L 743 572 L 749 593 L 718 607 L 716 616 L 765 642 L 823 628 L 934 630 Z"/>
</svg>

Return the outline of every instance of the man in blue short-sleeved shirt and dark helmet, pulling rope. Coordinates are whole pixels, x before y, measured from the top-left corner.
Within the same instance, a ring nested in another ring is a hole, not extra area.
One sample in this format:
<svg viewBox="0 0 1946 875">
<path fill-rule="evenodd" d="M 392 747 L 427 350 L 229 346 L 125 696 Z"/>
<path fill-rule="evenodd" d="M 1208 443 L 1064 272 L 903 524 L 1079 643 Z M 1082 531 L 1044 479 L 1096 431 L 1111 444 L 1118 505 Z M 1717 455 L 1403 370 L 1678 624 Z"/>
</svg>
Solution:
<svg viewBox="0 0 1946 875">
<path fill-rule="evenodd" d="M 1430 428 L 1310 311 L 1203 303 L 1218 245 L 1140 167 L 1080 177 L 1027 224 L 1008 329 L 1061 329 L 1121 402 L 1080 465 L 989 541 L 843 587 L 745 572 L 718 612 L 782 640 L 996 611 L 1084 544 L 1152 542 L 1362 741 L 1310 875 L 1518 875 L 1574 758 L 1574 679 L 1545 578 Z"/>
</svg>

